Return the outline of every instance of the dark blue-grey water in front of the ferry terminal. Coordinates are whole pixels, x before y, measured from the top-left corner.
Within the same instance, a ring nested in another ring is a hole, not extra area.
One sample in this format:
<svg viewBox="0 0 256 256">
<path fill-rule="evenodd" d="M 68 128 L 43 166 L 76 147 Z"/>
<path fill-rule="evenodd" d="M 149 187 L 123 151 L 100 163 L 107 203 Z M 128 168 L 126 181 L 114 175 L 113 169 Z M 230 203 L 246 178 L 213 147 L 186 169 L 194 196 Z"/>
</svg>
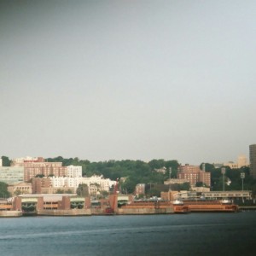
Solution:
<svg viewBox="0 0 256 256">
<path fill-rule="evenodd" d="M 0 255 L 256 255 L 256 212 L 0 218 Z"/>
</svg>

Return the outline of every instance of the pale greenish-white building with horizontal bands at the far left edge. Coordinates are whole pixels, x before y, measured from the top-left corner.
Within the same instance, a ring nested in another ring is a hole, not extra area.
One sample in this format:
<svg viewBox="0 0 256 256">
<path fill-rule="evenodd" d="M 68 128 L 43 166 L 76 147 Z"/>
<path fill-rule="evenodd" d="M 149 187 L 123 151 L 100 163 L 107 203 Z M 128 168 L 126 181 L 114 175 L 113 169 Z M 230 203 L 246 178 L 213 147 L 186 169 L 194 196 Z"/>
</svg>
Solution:
<svg viewBox="0 0 256 256">
<path fill-rule="evenodd" d="M 0 182 L 13 184 L 24 181 L 24 167 L 0 166 Z"/>
</svg>

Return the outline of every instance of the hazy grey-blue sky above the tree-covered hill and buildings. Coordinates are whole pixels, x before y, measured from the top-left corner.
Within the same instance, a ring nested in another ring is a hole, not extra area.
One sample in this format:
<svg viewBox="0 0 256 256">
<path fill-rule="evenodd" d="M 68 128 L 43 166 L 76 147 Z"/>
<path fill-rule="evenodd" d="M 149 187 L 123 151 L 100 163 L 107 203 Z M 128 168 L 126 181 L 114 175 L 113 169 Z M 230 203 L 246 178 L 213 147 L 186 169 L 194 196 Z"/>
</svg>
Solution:
<svg viewBox="0 0 256 256">
<path fill-rule="evenodd" d="M 248 157 L 256 2 L 0 1 L 0 155 Z"/>
</svg>

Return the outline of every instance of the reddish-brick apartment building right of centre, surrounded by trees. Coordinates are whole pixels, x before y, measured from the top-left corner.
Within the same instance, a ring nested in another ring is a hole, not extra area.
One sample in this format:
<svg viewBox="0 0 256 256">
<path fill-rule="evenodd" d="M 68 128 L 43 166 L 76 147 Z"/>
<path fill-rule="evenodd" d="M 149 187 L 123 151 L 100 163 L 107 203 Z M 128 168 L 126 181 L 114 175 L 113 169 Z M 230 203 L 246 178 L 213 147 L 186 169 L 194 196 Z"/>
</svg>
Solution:
<svg viewBox="0 0 256 256">
<path fill-rule="evenodd" d="M 201 171 L 200 166 L 179 166 L 177 171 L 177 178 L 188 180 L 192 186 L 198 182 L 211 186 L 211 173 Z"/>
</svg>

